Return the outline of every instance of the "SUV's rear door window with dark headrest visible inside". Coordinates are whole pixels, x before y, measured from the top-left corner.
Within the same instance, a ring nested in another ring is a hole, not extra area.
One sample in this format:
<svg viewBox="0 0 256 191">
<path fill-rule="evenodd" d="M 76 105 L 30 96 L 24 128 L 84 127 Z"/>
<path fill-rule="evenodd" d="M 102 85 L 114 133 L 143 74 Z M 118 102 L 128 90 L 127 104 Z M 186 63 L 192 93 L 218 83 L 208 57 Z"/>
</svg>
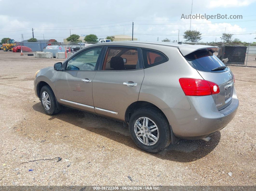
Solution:
<svg viewBox="0 0 256 191">
<path fill-rule="evenodd" d="M 136 48 L 108 47 L 102 70 L 135 70 L 138 67 Z"/>
</svg>

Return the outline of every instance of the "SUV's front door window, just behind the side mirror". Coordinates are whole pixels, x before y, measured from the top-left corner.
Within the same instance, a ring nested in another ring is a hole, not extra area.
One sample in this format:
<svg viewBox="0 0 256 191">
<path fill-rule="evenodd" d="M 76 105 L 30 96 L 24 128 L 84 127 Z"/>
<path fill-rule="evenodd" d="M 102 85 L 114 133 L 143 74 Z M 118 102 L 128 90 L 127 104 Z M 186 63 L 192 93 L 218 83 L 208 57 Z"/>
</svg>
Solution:
<svg viewBox="0 0 256 191">
<path fill-rule="evenodd" d="M 91 48 L 79 53 L 68 61 L 66 70 L 96 70 L 101 49 L 102 47 Z"/>
</svg>

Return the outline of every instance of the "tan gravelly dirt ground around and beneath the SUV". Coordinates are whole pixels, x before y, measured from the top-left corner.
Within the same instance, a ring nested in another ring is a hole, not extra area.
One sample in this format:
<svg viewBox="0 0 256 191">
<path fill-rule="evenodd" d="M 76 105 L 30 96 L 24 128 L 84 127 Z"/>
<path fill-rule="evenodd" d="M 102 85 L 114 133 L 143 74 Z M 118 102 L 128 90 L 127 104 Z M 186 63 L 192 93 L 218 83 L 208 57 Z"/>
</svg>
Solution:
<svg viewBox="0 0 256 191">
<path fill-rule="evenodd" d="M 240 106 L 209 142 L 150 154 L 121 122 L 68 108 L 44 113 L 34 75 L 58 61 L 0 51 L 0 185 L 256 185 L 256 68 L 230 67 Z"/>
</svg>

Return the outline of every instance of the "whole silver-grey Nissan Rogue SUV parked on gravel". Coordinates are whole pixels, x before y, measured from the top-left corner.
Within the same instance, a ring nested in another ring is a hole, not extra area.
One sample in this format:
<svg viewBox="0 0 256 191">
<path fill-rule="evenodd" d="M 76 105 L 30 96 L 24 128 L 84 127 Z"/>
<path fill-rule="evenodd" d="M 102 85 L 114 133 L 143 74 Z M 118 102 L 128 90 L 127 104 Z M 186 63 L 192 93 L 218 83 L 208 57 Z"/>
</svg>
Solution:
<svg viewBox="0 0 256 191">
<path fill-rule="evenodd" d="M 47 114 L 61 105 L 129 124 L 135 144 L 158 152 L 178 139 L 203 139 L 234 117 L 234 75 L 217 47 L 166 42 L 87 46 L 36 72 Z"/>
</svg>

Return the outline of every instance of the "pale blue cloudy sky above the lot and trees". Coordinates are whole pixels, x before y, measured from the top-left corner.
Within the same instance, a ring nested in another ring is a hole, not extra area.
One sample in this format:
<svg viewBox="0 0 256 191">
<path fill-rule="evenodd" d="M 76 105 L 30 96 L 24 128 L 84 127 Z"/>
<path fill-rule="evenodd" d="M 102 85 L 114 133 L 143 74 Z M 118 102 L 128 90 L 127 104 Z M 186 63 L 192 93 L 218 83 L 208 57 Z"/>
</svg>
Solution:
<svg viewBox="0 0 256 191">
<path fill-rule="evenodd" d="M 17 1 L 0 0 L 0 39 L 15 41 L 34 36 L 63 42 L 70 34 L 132 34 L 139 40 L 161 41 L 164 38 L 184 41 L 182 35 L 190 27 L 192 0 L 98 0 L 98 1 Z M 202 33 L 201 42 L 220 41 L 221 33 L 255 42 L 256 0 L 194 0 L 192 15 L 242 15 L 242 19 L 192 19 L 191 30 Z"/>
</svg>

